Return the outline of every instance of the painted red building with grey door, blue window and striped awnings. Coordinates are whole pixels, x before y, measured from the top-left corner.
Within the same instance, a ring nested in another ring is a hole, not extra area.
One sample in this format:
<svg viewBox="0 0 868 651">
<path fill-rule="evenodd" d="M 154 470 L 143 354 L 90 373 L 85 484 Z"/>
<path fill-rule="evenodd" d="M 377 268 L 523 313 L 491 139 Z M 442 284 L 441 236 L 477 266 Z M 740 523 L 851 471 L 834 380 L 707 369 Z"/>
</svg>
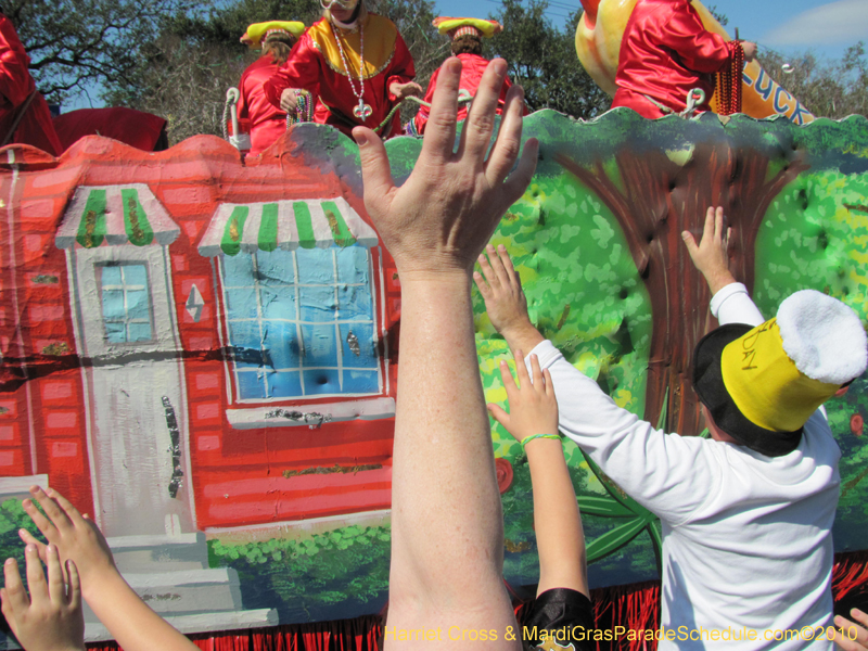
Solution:
<svg viewBox="0 0 868 651">
<path fill-rule="evenodd" d="M 390 506 L 394 263 L 340 162 L 0 150 L 0 475 L 108 536 Z"/>
</svg>

